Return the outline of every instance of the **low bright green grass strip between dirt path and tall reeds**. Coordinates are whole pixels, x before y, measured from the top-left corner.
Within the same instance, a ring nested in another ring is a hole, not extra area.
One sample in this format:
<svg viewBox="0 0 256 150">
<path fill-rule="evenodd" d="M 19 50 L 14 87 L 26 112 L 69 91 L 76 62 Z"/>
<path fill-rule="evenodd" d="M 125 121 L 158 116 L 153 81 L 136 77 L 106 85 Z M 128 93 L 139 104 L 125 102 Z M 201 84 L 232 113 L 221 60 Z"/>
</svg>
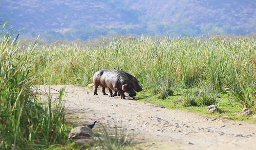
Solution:
<svg viewBox="0 0 256 150">
<path fill-rule="evenodd" d="M 224 117 L 228 116 L 227 119 L 230 120 L 240 120 L 240 121 L 250 121 L 256 122 L 256 119 L 252 116 L 243 116 L 240 112 L 243 109 L 243 106 L 234 101 L 232 96 L 229 93 L 221 93 L 216 95 L 216 106 L 217 111 L 215 113 L 209 113 L 206 109 L 207 106 L 191 106 L 191 105 L 184 105 L 187 102 L 187 97 L 191 96 L 194 99 L 193 103 L 196 103 L 197 96 L 200 96 L 198 89 L 189 89 L 190 93 L 188 93 L 187 89 L 176 89 L 174 91 L 174 96 L 168 96 L 165 99 L 161 99 L 158 95 L 155 95 L 152 92 L 152 89 L 144 89 L 141 92 L 138 92 L 138 101 L 154 103 L 159 105 L 160 107 L 167 108 L 167 109 L 177 109 L 177 110 L 184 110 L 190 112 L 196 112 L 201 114 L 212 115 L 215 117 Z M 192 92 L 191 92 L 192 91 Z M 191 98 L 190 97 L 190 98 Z M 254 108 L 251 108 L 254 110 Z"/>
</svg>

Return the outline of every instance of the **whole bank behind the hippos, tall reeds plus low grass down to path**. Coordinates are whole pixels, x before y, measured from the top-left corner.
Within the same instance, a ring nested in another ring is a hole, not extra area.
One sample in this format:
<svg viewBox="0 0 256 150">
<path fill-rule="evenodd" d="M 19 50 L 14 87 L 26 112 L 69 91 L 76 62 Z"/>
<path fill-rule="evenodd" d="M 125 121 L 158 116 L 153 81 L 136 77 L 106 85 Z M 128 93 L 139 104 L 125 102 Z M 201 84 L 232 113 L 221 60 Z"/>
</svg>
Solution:
<svg viewBox="0 0 256 150">
<path fill-rule="evenodd" d="M 211 104 L 255 106 L 256 41 L 253 36 L 102 38 L 100 45 L 77 42 L 43 44 L 33 59 L 37 84 L 92 83 L 95 71 L 122 68 L 143 86 L 152 101 L 184 107 Z M 173 96 L 173 97 L 172 97 Z M 178 97 L 177 97 L 178 96 Z M 179 97 L 180 96 L 180 97 Z M 175 99 L 173 99 L 175 97 Z M 164 99 L 164 100 L 162 100 Z M 225 102 L 225 103 L 224 103 Z M 226 112 L 225 110 L 223 112 Z"/>
</svg>

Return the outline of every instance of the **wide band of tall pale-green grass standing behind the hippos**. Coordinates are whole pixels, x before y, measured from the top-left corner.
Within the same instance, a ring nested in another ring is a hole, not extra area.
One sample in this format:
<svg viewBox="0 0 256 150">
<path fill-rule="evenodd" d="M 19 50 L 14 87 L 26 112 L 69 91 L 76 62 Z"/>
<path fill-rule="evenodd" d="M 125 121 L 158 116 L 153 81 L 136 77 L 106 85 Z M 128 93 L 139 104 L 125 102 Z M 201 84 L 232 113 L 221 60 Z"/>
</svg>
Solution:
<svg viewBox="0 0 256 150">
<path fill-rule="evenodd" d="M 98 47 L 65 42 L 40 46 L 33 56 L 41 60 L 32 70 L 35 82 L 45 83 L 52 75 L 54 84 L 86 86 L 97 70 L 119 67 L 133 74 L 142 86 L 158 87 L 174 80 L 174 85 L 185 88 L 207 84 L 214 92 L 227 92 L 233 78 L 242 83 L 253 80 L 256 73 L 256 41 L 250 37 L 142 36 L 102 43 Z"/>
</svg>

